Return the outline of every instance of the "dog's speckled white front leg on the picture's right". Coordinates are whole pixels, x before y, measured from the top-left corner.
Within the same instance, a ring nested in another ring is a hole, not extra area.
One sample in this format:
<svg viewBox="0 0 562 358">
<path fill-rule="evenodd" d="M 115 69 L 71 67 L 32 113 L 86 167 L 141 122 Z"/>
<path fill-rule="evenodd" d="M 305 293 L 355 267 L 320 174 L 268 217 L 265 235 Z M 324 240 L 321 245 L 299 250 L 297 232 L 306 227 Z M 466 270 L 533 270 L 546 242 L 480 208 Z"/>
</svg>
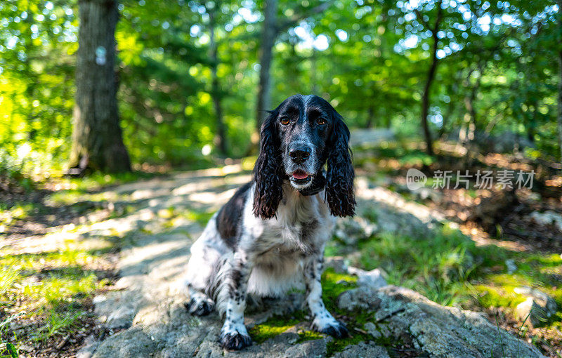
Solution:
<svg viewBox="0 0 562 358">
<path fill-rule="evenodd" d="M 304 267 L 304 282 L 306 285 L 306 301 L 313 317 L 313 328 L 321 333 L 336 338 L 348 336 L 346 326 L 328 312 L 322 300 L 322 268 L 324 265 L 324 250 L 319 255 L 311 256 Z"/>
</svg>

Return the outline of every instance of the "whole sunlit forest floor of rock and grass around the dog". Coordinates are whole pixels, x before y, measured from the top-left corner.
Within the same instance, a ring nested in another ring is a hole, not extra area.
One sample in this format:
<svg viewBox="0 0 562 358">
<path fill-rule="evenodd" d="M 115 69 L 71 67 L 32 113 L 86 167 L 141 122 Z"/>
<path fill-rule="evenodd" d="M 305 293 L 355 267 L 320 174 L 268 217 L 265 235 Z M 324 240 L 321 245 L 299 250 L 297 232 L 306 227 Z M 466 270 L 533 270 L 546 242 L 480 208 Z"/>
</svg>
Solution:
<svg viewBox="0 0 562 358">
<path fill-rule="evenodd" d="M 478 193 L 408 192 L 404 164 L 356 154 L 358 215 L 336 225 L 322 277 L 351 337 L 311 331 L 298 291 L 251 300 L 254 345 L 242 352 L 221 350 L 216 313 L 186 312 L 190 244 L 249 180 L 236 164 L 59 188 L 34 194 L 39 206 L 12 208 L 13 220 L 0 216 L 2 340 L 21 357 L 560 357 L 558 201 L 518 193 L 525 208 L 504 225 L 518 235 L 495 239 L 486 218 L 511 208 L 488 215 Z M 396 173 L 377 174 L 388 166 Z M 18 219 L 25 210 L 36 212 Z"/>
</svg>

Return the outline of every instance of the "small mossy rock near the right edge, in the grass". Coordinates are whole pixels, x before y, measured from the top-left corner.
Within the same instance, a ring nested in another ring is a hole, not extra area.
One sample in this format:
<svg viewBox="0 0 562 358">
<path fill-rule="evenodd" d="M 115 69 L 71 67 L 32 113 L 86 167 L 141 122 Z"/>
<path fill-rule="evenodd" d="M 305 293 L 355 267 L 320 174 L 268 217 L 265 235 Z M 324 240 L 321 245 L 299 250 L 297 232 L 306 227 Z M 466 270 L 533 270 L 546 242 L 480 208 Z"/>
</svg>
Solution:
<svg viewBox="0 0 562 358">
<path fill-rule="evenodd" d="M 530 287 L 516 287 L 515 293 L 528 296 L 525 301 L 519 303 L 516 307 L 516 313 L 520 319 L 527 318 L 525 324 L 532 327 L 544 324 L 552 314 L 556 313 L 556 301 L 549 297 L 546 293 Z"/>
</svg>

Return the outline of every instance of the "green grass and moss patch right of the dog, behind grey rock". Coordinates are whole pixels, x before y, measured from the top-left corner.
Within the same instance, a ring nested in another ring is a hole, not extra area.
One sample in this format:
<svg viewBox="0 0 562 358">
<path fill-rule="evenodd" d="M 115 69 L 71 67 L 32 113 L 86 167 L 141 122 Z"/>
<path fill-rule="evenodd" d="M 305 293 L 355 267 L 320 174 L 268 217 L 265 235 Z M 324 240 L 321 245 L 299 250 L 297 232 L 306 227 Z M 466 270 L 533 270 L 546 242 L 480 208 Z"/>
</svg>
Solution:
<svg viewBox="0 0 562 358">
<path fill-rule="evenodd" d="M 497 246 L 476 246 L 458 230 L 444 226 L 434 237 L 414 239 L 382 234 L 359 246 L 359 265 L 366 270 L 382 267 L 388 283 L 406 286 L 441 305 L 509 310 L 523 300 L 514 292 L 518 286 L 532 286 L 549 294 L 562 316 L 562 292 L 558 288 L 562 258 L 509 251 Z M 330 248 L 337 253 L 337 246 Z M 517 270 L 507 272 L 511 259 Z M 558 274 L 558 276 L 556 275 Z M 559 326 L 553 320 L 547 325 Z"/>
</svg>

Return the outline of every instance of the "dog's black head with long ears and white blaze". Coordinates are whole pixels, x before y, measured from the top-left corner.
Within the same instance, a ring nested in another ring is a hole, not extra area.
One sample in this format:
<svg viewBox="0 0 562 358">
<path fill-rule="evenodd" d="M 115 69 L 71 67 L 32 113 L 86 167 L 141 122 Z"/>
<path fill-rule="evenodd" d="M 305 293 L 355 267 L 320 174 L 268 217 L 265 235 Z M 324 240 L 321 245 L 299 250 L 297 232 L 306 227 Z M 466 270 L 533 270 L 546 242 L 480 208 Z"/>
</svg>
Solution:
<svg viewBox="0 0 562 358">
<path fill-rule="evenodd" d="M 349 130 L 334 107 L 316 95 L 292 95 L 261 126 L 254 166 L 254 214 L 275 216 L 283 180 L 306 190 L 327 163 L 326 200 L 334 216 L 353 216 L 353 165 Z"/>
</svg>

